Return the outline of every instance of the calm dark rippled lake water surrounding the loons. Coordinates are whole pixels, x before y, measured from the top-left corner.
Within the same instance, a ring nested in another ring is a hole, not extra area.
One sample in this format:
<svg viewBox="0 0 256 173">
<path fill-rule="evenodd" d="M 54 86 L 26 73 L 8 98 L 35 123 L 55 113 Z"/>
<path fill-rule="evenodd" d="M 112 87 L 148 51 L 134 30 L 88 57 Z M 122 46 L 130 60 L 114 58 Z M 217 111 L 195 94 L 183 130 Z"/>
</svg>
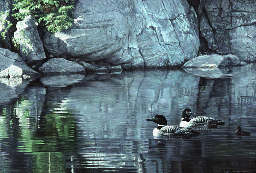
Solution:
<svg viewBox="0 0 256 173">
<path fill-rule="evenodd" d="M 228 78 L 184 70 L 1 81 L 0 173 L 248 172 L 256 170 L 256 66 Z M 225 121 L 192 138 L 155 139 L 155 114 Z M 235 127 L 251 132 L 236 136 Z"/>
</svg>

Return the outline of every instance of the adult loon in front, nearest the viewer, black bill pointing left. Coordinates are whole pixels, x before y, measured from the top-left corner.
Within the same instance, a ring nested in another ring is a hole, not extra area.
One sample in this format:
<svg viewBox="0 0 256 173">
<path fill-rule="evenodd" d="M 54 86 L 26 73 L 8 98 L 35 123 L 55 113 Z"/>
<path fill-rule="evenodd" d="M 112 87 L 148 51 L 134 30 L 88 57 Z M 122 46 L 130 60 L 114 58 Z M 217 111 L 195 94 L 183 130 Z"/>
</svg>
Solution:
<svg viewBox="0 0 256 173">
<path fill-rule="evenodd" d="M 151 119 L 147 119 L 146 121 L 153 121 L 158 124 L 157 128 L 153 130 L 153 136 L 197 136 L 200 133 L 190 130 L 188 128 L 180 127 L 180 126 L 167 126 L 166 118 L 163 115 L 155 115 Z"/>
</svg>

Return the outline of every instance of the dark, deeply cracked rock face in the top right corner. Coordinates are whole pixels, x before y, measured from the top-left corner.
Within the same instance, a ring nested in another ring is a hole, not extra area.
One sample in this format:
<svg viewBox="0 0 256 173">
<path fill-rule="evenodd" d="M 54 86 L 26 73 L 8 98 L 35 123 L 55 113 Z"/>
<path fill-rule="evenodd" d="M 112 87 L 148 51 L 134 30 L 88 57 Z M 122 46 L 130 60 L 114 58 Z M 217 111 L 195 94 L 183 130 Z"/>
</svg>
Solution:
<svg viewBox="0 0 256 173">
<path fill-rule="evenodd" d="M 256 1 L 202 0 L 201 3 L 205 12 L 200 18 L 200 31 L 209 51 L 234 54 L 245 62 L 255 61 Z"/>
</svg>

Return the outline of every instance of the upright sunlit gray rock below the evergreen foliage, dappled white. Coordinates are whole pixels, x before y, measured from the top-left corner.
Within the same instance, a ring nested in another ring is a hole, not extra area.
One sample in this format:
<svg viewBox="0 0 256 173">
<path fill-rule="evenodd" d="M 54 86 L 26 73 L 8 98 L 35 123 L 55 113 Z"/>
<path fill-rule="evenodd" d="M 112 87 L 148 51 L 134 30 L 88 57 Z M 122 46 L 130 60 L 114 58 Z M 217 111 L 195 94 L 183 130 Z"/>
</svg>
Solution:
<svg viewBox="0 0 256 173">
<path fill-rule="evenodd" d="M 14 38 L 20 44 L 21 57 L 30 67 L 40 67 L 43 62 L 42 60 L 46 56 L 43 43 L 39 37 L 35 18 L 33 16 L 27 16 L 24 20 L 17 23 L 16 28 L 17 31 L 14 32 Z M 30 40 L 29 42 L 28 39 Z"/>
</svg>

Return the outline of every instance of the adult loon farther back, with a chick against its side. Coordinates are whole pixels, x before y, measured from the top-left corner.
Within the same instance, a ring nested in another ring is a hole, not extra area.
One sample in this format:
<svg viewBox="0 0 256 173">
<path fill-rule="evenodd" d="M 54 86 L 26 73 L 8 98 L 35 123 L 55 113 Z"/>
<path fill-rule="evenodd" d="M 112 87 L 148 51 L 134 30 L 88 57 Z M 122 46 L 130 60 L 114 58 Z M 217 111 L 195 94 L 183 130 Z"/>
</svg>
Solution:
<svg viewBox="0 0 256 173">
<path fill-rule="evenodd" d="M 200 117 L 192 117 L 191 115 L 195 115 L 195 113 L 191 112 L 191 109 L 185 108 L 181 111 L 181 127 L 190 127 L 190 126 L 205 126 L 208 122 L 208 120 L 211 120 L 211 123 L 216 125 L 222 125 L 225 124 L 222 120 L 217 120 L 214 118 L 206 117 L 206 116 L 200 116 Z"/>
</svg>

